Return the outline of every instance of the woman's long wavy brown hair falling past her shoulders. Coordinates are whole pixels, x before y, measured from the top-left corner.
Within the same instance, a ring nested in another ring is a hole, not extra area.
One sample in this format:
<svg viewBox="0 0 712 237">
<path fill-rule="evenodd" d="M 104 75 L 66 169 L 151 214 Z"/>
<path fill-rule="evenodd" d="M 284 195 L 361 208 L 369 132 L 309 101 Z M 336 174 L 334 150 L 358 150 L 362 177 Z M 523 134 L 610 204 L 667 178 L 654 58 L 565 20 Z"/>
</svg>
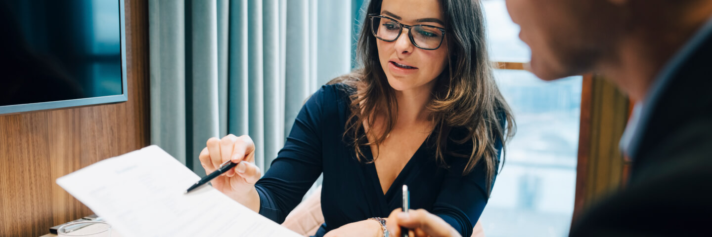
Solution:
<svg viewBox="0 0 712 237">
<path fill-rule="evenodd" d="M 496 143 L 504 149 L 508 139 L 515 133 L 515 122 L 507 102 L 502 97 L 493 79 L 493 67 L 487 53 L 484 16 L 479 0 L 441 0 L 446 22 L 446 41 L 449 51 L 448 68 L 436 78 L 431 101 L 427 105 L 430 119 L 436 130 L 428 139 L 436 139 L 435 159 L 448 167 L 444 157 L 468 158 L 462 174 L 469 174 L 479 162 L 485 162 L 488 187 L 491 187 L 499 164 Z M 381 1 L 371 1 L 368 14 L 379 14 Z M 375 38 L 370 31 L 370 21 L 364 19 L 357 43 L 357 59 L 360 68 L 330 82 L 350 85 L 351 115 L 345 127 L 345 136 L 351 137 L 356 157 L 364 159 L 361 147 L 378 147 L 393 130 L 397 121 L 398 105 L 394 90 L 388 84 L 379 63 Z M 384 124 L 379 125 L 382 133 L 372 135 L 368 142 L 362 128 L 374 127 L 375 115 L 382 116 Z M 504 115 L 504 116 L 502 116 Z M 505 121 L 506 127 L 503 127 Z M 454 137 L 454 127 L 464 128 L 468 134 Z M 435 137 L 432 137 L 435 135 Z M 469 154 L 448 152 L 448 142 L 472 143 Z M 376 159 L 375 157 L 374 159 Z M 489 192 L 489 188 L 488 188 Z"/>
</svg>

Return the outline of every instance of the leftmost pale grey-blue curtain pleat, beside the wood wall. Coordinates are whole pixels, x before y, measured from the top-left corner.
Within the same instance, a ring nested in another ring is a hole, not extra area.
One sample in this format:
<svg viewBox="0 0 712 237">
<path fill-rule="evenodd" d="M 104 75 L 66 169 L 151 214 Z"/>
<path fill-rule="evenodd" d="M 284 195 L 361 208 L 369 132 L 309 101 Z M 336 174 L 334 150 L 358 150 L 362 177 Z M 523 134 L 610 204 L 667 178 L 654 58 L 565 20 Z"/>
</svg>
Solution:
<svg viewBox="0 0 712 237">
<path fill-rule="evenodd" d="M 151 143 L 186 163 L 184 1 L 148 2 Z"/>
</svg>

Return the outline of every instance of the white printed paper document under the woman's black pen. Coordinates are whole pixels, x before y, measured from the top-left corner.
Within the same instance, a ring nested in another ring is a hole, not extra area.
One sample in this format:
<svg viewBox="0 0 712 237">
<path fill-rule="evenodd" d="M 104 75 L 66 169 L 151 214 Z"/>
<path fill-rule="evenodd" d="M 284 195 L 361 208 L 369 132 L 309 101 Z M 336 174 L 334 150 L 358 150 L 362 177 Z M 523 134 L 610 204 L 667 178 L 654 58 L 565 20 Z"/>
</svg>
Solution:
<svg viewBox="0 0 712 237">
<path fill-rule="evenodd" d="M 157 146 L 57 179 L 122 236 L 300 236 L 205 185 Z"/>
</svg>

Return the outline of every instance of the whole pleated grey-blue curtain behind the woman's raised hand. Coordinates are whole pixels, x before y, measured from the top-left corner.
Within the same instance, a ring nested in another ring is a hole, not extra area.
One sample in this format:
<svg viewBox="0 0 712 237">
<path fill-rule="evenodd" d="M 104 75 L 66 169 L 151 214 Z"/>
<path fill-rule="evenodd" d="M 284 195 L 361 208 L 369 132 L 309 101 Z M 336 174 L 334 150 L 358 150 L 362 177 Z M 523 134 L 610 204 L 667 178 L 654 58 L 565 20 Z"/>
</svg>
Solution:
<svg viewBox="0 0 712 237">
<path fill-rule="evenodd" d="M 266 171 L 305 99 L 351 69 L 354 6 L 150 0 L 152 144 L 202 175 L 207 139 L 250 135 Z"/>
</svg>

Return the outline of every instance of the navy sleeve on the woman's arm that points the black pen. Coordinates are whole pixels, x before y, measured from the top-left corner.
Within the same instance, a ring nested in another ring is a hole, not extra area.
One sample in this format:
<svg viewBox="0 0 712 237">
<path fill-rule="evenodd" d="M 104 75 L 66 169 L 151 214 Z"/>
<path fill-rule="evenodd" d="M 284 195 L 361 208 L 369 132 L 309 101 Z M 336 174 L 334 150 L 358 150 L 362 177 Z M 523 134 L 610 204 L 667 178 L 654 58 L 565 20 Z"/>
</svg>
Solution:
<svg viewBox="0 0 712 237">
<path fill-rule="evenodd" d="M 322 172 L 323 87 L 309 98 L 297 115 L 284 147 L 270 169 L 255 184 L 259 214 L 282 223 Z"/>
</svg>

